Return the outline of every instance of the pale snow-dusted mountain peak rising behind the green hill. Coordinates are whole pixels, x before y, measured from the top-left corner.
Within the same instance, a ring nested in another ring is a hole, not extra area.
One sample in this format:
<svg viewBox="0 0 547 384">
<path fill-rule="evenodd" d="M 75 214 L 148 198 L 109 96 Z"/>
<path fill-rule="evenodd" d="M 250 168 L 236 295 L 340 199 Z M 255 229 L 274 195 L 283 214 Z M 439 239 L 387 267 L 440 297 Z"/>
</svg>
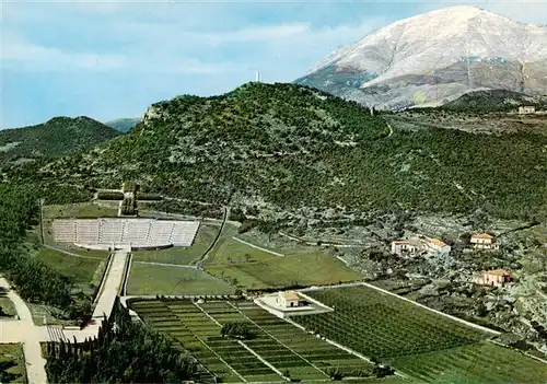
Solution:
<svg viewBox="0 0 547 384">
<path fill-rule="evenodd" d="M 466 5 L 431 11 L 335 50 L 295 83 L 385 109 L 491 89 L 545 95 L 547 26 Z"/>
</svg>

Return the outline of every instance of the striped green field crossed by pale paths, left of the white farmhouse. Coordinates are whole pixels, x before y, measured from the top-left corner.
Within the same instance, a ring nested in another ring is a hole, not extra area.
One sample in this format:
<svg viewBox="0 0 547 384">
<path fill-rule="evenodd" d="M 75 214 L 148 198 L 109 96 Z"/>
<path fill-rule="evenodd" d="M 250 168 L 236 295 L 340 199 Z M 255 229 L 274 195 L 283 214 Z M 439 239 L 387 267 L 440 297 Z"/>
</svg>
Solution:
<svg viewBox="0 0 547 384">
<path fill-rule="evenodd" d="M 172 335 L 223 382 L 328 381 L 326 372 L 368 376 L 371 364 L 267 313 L 252 302 L 142 301 L 131 307 L 153 328 Z M 247 322 L 254 337 L 236 341 L 220 336 L 226 322 Z M 268 364 L 263 363 L 260 356 Z"/>
</svg>

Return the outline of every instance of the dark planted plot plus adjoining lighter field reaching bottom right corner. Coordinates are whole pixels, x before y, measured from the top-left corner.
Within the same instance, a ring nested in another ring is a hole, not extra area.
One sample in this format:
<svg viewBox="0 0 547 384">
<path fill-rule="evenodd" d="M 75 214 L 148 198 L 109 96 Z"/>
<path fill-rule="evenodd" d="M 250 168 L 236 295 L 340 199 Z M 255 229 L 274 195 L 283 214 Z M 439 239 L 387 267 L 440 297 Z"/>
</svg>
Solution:
<svg viewBox="0 0 547 384">
<path fill-rule="evenodd" d="M 547 377 L 546 364 L 485 341 L 490 334 L 375 289 L 361 286 L 306 293 L 335 311 L 294 316 L 294 321 L 416 380 L 540 384 Z"/>
</svg>

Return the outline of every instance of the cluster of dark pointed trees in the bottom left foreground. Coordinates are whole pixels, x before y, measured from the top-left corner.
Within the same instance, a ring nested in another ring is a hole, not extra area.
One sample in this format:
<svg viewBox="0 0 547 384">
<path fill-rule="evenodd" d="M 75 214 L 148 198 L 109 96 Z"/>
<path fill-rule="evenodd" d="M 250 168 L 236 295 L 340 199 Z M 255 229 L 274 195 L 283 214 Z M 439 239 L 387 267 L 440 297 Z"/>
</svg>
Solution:
<svg viewBox="0 0 547 384">
<path fill-rule="evenodd" d="M 197 375 L 197 366 L 117 303 L 96 338 L 47 342 L 46 372 L 51 383 L 182 383 Z"/>
</svg>

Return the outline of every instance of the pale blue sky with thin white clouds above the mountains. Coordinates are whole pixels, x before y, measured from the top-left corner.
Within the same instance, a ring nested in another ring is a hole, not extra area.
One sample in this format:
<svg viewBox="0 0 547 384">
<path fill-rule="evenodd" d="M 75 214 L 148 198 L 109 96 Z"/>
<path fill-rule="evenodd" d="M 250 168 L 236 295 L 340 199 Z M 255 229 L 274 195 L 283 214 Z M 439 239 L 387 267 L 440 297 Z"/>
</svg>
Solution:
<svg viewBox="0 0 547 384">
<path fill-rule="evenodd" d="M 433 9 L 547 24 L 547 1 L 0 0 L 0 128 L 142 116 L 181 94 L 290 82 L 337 47 Z"/>
</svg>

